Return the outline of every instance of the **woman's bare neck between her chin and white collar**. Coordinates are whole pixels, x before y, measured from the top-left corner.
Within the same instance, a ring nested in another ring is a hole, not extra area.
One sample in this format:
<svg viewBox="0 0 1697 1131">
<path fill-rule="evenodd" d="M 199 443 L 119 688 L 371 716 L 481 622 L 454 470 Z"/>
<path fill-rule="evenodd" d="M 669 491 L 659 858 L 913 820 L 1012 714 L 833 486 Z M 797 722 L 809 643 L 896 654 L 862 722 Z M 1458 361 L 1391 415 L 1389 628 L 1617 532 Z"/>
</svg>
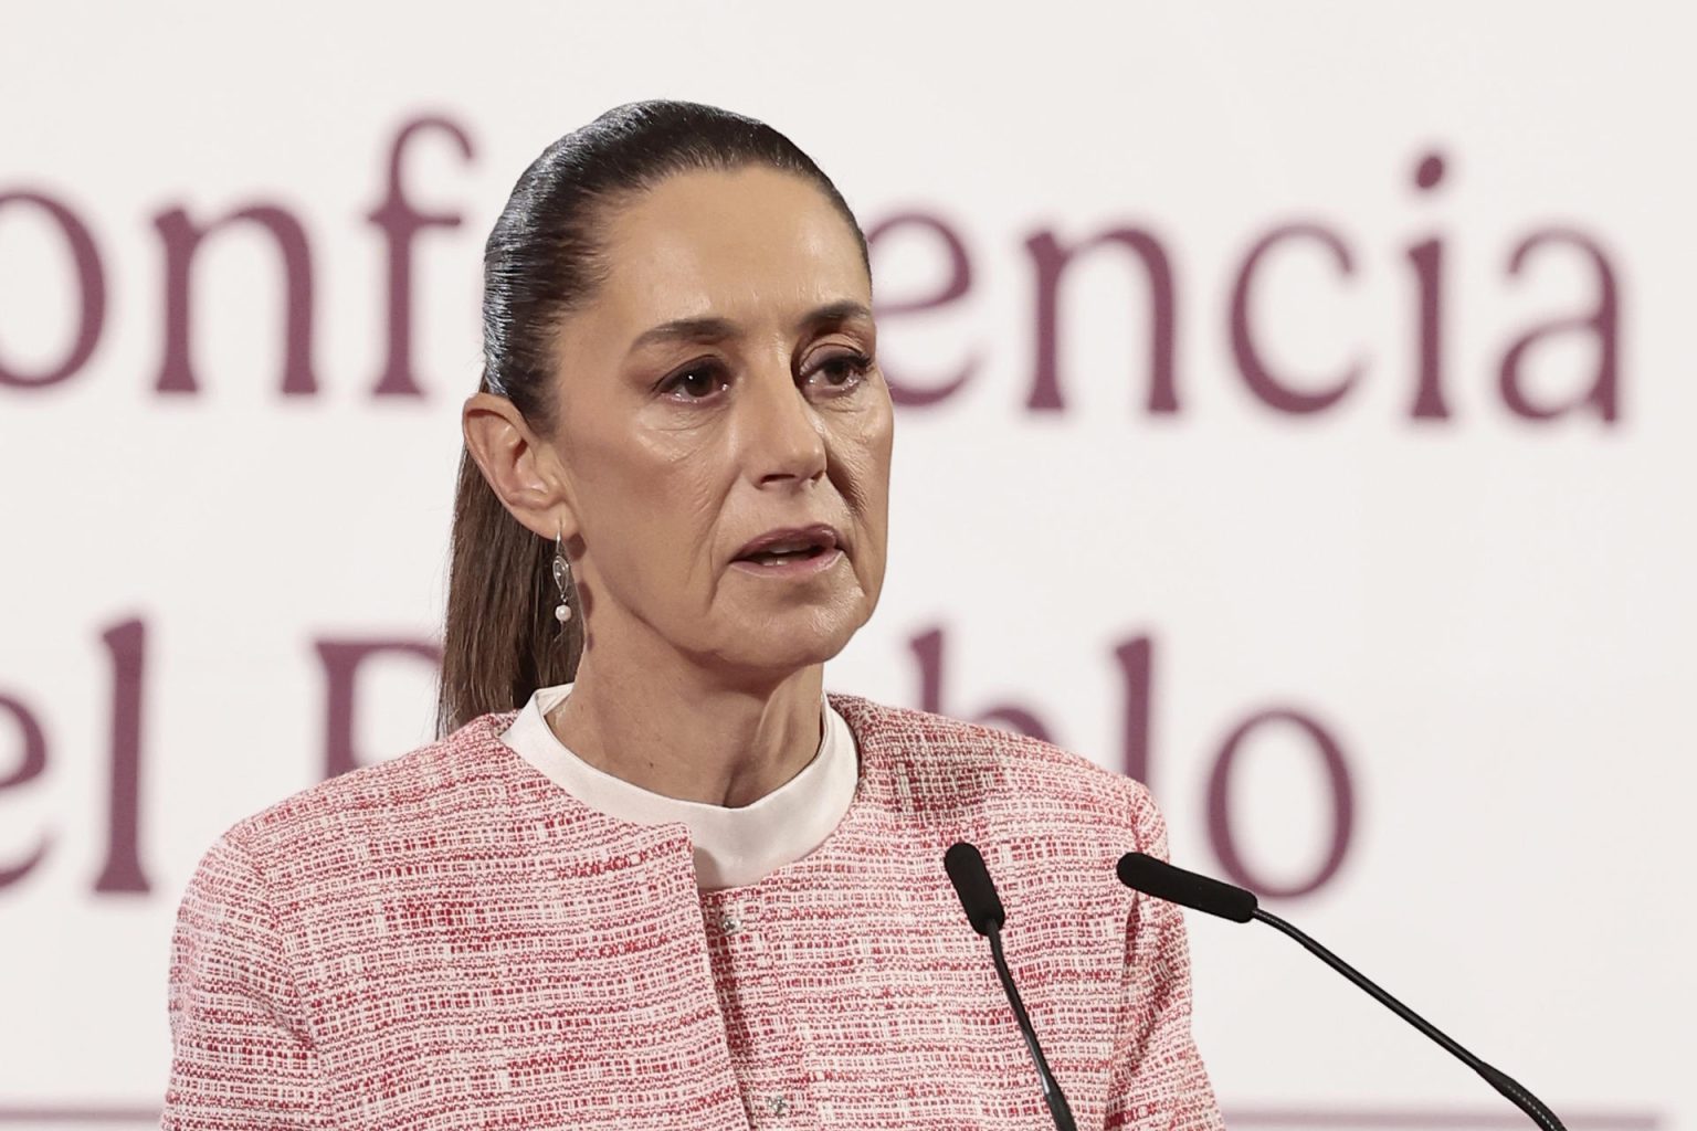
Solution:
<svg viewBox="0 0 1697 1131">
<path fill-rule="evenodd" d="M 596 651 L 584 655 L 548 726 L 604 773 L 664 797 L 742 807 L 801 773 L 820 749 L 823 665 L 726 685 L 691 666 L 658 673 Z"/>
</svg>

